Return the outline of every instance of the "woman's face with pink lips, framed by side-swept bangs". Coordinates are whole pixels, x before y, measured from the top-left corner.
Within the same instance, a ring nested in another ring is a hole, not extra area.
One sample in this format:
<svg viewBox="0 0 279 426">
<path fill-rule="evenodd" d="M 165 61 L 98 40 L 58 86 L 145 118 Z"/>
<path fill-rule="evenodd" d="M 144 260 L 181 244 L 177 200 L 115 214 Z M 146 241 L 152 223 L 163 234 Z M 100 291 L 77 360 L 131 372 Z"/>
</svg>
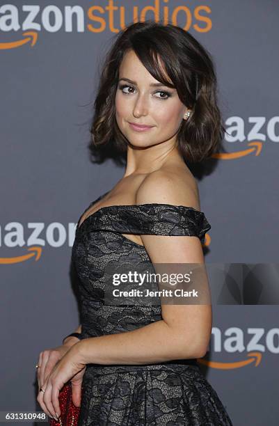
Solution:
<svg viewBox="0 0 279 426">
<path fill-rule="evenodd" d="M 146 70 L 134 51 L 129 50 L 119 69 L 115 116 L 129 143 L 142 148 L 165 141 L 175 143 L 175 135 L 187 111 L 174 88 L 152 84 L 160 82 Z M 152 127 L 140 132 L 129 123 Z"/>
</svg>

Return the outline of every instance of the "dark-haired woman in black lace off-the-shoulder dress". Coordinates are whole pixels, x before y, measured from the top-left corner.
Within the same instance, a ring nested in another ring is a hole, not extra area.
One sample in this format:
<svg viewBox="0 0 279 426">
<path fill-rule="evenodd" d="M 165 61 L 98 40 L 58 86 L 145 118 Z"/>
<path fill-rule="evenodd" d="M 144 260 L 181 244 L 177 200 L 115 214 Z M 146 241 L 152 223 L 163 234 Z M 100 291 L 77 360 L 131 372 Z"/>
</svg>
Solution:
<svg viewBox="0 0 279 426">
<path fill-rule="evenodd" d="M 49 416 L 60 416 L 58 393 L 71 380 L 79 426 L 232 425 L 196 362 L 209 344 L 211 305 L 106 299 L 108 266 L 204 264 L 211 226 L 186 161 L 216 152 L 223 131 L 214 65 L 193 36 L 150 21 L 118 34 L 92 135 L 95 146 L 127 153 L 127 164 L 78 222 L 81 326 L 38 363 L 38 402 Z"/>
</svg>

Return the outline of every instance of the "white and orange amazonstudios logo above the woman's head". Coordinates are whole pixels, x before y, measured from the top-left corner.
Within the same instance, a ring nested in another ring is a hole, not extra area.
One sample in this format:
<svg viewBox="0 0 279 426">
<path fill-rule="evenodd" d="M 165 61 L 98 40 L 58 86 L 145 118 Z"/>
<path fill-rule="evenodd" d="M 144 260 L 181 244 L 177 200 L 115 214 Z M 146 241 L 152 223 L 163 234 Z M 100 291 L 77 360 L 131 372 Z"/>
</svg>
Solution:
<svg viewBox="0 0 279 426">
<path fill-rule="evenodd" d="M 26 44 L 33 47 L 38 40 L 38 32 L 42 29 L 49 33 L 102 33 L 107 30 L 119 33 L 120 29 L 115 27 L 115 22 L 120 22 L 120 28 L 125 29 L 125 22 L 145 22 L 146 19 L 154 19 L 157 22 L 161 19 L 164 24 L 170 22 L 176 26 L 178 19 L 182 19 L 182 22 L 185 22 L 185 31 L 193 28 L 199 33 L 207 33 L 212 29 L 212 19 L 209 17 L 212 10 L 209 6 L 190 8 L 182 4 L 170 9 L 167 1 L 154 0 L 152 5 L 143 8 L 133 3 L 129 10 L 126 6 L 115 5 L 113 0 L 108 0 L 106 6 L 104 1 L 100 1 L 100 5 L 94 4 L 87 10 L 80 5 L 59 8 L 54 4 L 44 8 L 40 5 L 24 4 L 19 10 L 15 4 L 3 4 L 0 6 L 0 31 L 24 32 L 17 40 L 0 40 L 0 49 L 14 49 Z"/>
</svg>

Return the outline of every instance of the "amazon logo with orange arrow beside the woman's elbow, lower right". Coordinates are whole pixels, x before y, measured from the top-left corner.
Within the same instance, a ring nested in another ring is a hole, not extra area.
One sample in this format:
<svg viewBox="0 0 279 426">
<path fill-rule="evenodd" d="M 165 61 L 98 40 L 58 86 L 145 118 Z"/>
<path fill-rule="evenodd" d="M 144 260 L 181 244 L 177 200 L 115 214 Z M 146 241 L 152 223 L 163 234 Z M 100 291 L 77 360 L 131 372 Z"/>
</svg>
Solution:
<svg viewBox="0 0 279 426">
<path fill-rule="evenodd" d="M 263 328 L 248 328 L 246 333 L 239 327 L 230 327 L 222 332 L 218 327 L 212 327 L 212 339 L 209 344 L 209 353 L 216 357 L 222 352 L 232 355 L 232 361 L 212 361 L 198 358 L 198 363 L 218 370 L 233 370 L 248 365 L 257 367 L 262 361 L 264 352 L 279 354 L 279 329 L 265 331 Z"/>
</svg>

